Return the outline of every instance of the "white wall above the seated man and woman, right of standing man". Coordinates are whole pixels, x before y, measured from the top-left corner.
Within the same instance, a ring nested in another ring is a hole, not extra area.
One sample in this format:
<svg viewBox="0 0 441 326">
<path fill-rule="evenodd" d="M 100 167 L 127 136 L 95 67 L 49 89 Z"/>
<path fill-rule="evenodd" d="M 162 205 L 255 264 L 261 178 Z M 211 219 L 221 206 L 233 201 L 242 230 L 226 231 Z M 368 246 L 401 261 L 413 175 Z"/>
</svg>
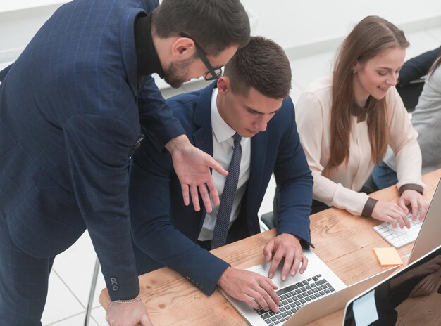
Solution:
<svg viewBox="0 0 441 326">
<path fill-rule="evenodd" d="M 380 15 L 395 25 L 441 25 L 440 0 L 242 0 L 259 16 L 256 34 L 284 48 L 342 37 L 366 15 Z M 414 31 L 412 31 L 414 32 Z"/>
</svg>

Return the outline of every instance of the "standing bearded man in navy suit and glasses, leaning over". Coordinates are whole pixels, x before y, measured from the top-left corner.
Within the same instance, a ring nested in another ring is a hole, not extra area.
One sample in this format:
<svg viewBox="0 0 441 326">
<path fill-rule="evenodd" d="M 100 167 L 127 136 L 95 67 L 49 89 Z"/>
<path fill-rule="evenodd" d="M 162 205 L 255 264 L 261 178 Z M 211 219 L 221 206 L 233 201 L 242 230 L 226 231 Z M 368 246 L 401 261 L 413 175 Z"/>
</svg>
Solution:
<svg viewBox="0 0 441 326">
<path fill-rule="evenodd" d="M 128 163 L 144 137 L 166 148 L 185 204 L 218 202 L 209 167 L 154 84 L 204 76 L 247 44 L 238 0 L 73 0 L 0 72 L 0 325 L 35 326 L 54 256 L 89 230 L 111 325 L 151 325 L 130 236 Z M 213 68 L 214 67 L 214 68 Z"/>
</svg>

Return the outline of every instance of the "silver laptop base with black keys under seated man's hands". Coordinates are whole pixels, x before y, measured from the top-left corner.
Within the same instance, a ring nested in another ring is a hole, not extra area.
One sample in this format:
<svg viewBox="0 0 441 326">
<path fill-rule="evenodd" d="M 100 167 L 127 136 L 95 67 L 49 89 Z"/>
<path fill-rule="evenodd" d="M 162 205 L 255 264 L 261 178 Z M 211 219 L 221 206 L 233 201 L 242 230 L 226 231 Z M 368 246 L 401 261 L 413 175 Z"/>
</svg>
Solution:
<svg viewBox="0 0 441 326">
<path fill-rule="evenodd" d="M 221 292 L 250 325 L 281 325 L 305 304 L 346 287 L 344 282 L 311 250 L 304 250 L 304 255 L 308 259 L 308 268 L 303 274 L 297 273 L 294 277 L 288 277 L 283 282 L 281 279 L 282 266 L 279 266 L 272 279 L 275 285 L 278 286 L 276 293 L 281 301 L 280 313 L 264 311 L 263 309 L 256 311 L 245 302 L 232 298 L 223 289 L 221 289 Z M 247 270 L 267 276 L 270 266 L 271 261 L 247 268 Z"/>
</svg>

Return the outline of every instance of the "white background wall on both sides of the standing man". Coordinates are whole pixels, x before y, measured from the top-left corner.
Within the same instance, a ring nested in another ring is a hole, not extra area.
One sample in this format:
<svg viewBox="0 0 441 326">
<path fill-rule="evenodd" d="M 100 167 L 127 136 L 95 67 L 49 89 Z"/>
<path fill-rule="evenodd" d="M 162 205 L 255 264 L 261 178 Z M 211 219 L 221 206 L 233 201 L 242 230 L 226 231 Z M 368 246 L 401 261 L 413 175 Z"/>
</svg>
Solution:
<svg viewBox="0 0 441 326">
<path fill-rule="evenodd" d="M 15 56 L 63 2 L 68 0 L 0 0 L 0 67 L 1 57 Z M 441 27 L 440 0 L 242 0 L 242 4 L 258 17 L 254 34 L 274 39 L 292 60 L 333 51 L 366 15 L 380 15 L 405 32 Z M 13 48 L 18 51 L 5 52 Z"/>
</svg>

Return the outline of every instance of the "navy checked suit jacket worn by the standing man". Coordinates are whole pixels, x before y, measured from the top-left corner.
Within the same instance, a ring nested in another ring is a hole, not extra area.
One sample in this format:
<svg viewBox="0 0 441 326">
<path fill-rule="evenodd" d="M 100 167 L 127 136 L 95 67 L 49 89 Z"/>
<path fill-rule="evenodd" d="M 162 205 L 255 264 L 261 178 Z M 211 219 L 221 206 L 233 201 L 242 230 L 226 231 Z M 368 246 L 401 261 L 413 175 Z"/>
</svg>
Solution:
<svg viewBox="0 0 441 326">
<path fill-rule="evenodd" d="M 0 73 L 0 214 L 11 238 L 46 258 L 87 228 L 112 300 L 139 291 L 128 208 L 139 120 L 155 150 L 183 133 L 151 77 L 138 91 L 134 22 L 155 2 L 71 1 Z"/>
</svg>

